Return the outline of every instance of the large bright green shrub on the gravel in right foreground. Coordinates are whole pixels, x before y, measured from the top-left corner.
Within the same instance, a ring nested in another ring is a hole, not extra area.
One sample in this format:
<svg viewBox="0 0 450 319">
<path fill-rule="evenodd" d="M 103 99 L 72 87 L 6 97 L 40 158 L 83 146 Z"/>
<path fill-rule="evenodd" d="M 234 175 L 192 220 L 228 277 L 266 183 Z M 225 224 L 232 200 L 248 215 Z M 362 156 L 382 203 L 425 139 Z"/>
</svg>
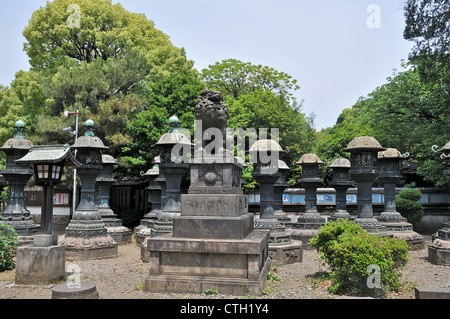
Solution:
<svg viewBox="0 0 450 319">
<path fill-rule="evenodd" d="M 396 270 L 408 262 L 408 245 L 404 240 L 369 235 L 352 221 L 329 222 L 311 238 L 309 245 L 330 266 L 332 293 L 357 292 L 376 295 L 398 290 Z M 380 286 L 369 287 L 369 266 L 380 269 Z"/>
</svg>

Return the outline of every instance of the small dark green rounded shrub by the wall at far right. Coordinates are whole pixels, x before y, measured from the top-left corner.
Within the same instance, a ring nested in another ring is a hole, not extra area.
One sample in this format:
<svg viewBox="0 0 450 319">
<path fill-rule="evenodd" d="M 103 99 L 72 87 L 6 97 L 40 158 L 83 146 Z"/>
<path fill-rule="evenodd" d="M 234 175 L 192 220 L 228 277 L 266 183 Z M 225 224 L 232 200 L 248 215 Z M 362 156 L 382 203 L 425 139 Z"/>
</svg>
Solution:
<svg viewBox="0 0 450 319">
<path fill-rule="evenodd" d="M 423 207 L 417 201 L 422 193 L 417 189 L 404 189 L 395 200 L 397 211 L 413 225 L 415 230 L 420 230 L 420 221 L 424 216 Z"/>
</svg>

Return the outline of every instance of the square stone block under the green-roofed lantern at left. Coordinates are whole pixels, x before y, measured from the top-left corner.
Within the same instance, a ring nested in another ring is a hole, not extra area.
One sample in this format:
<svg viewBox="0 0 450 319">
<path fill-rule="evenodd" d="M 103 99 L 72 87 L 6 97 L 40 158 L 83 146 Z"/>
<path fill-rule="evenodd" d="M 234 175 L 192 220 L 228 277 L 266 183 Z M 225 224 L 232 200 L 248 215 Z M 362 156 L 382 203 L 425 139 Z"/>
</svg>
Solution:
<svg viewBox="0 0 450 319">
<path fill-rule="evenodd" d="M 65 247 L 18 247 L 16 284 L 47 285 L 64 279 Z"/>
</svg>

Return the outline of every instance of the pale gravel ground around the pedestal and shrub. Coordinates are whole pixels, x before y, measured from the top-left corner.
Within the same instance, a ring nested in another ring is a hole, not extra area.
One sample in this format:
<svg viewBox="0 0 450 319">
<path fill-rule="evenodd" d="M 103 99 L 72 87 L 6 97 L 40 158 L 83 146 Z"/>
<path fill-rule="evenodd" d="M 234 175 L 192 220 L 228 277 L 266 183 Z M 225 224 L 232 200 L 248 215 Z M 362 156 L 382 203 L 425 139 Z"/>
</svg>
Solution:
<svg viewBox="0 0 450 319">
<path fill-rule="evenodd" d="M 402 269 L 402 281 L 406 289 L 384 298 L 414 299 L 414 286 L 450 288 L 450 267 L 433 265 L 427 261 L 426 249 L 411 251 L 410 262 Z M 144 280 L 149 266 L 139 258 L 139 247 L 134 243 L 119 246 L 119 257 L 103 260 L 79 260 L 66 262 L 78 265 L 82 281 L 94 281 L 101 299 L 235 299 L 255 296 L 229 296 L 223 294 L 172 294 L 144 291 Z M 326 266 L 315 250 L 303 251 L 303 262 L 278 266 L 275 274 L 279 281 L 267 285 L 267 293 L 258 299 L 336 299 L 328 292 L 329 282 L 313 277 Z M 52 285 L 15 285 L 14 270 L 0 273 L 1 299 L 51 299 Z M 344 296 L 345 297 L 345 296 Z"/>
</svg>

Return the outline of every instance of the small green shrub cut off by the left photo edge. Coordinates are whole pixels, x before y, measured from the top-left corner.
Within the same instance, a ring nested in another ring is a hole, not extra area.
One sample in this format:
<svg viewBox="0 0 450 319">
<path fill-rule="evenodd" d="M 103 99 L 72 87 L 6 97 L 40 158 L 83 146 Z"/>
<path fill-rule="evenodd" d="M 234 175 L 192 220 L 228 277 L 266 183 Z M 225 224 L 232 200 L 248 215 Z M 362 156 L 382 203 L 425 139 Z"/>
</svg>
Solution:
<svg viewBox="0 0 450 319">
<path fill-rule="evenodd" d="M 13 226 L 0 222 L 0 271 L 14 269 L 18 238 Z"/>
</svg>

